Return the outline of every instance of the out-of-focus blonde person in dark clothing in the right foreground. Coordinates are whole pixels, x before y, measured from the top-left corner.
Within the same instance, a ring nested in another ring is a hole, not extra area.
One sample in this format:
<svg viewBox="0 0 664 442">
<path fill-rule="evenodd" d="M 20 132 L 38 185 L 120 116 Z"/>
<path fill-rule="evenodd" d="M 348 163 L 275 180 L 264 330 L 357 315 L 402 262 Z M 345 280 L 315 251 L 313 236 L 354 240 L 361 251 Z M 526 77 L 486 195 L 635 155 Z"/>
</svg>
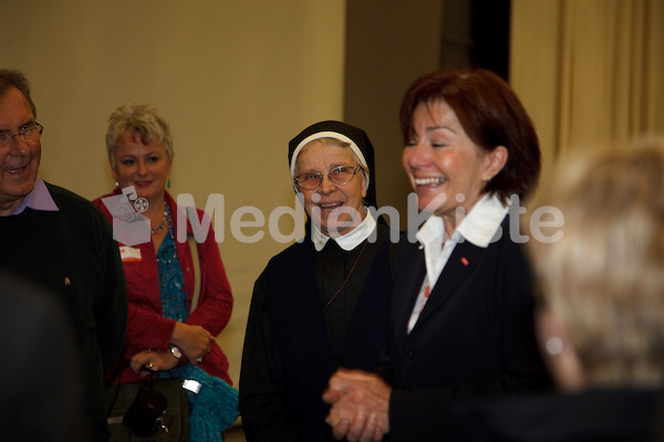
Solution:
<svg viewBox="0 0 664 442">
<path fill-rule="evenodd" d="M 463 440 L 661 440 L 664 140 L 570 159 L 540 189 L 535 207 L 564 215 L 541 230 L 560 230 L 557 241 L 529 242 L 559 393 L 466 409 L 452 424 Z"/>
</svg>

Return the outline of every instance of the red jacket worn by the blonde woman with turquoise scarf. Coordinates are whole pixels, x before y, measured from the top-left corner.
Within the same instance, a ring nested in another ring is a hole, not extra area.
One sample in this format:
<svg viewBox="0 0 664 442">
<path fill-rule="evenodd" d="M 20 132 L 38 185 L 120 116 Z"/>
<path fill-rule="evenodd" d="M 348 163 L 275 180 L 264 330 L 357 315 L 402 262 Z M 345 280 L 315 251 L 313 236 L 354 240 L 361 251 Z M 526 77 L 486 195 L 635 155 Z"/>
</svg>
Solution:
<svg viewBox="0 0 664 442">
<path fill-rule="evenodd" d="M 104 206 L 102 198 L 114 194 L 120 194 L 120 191 L 115 190 L 115 192 L 93 201 L 111 222 L 114 221 L 113 217 Z M 187 233 L 191 234 L 190 221 L 176 214 L 178 208 L 168 192 L 166 192 L 165 198 L 173 214 L 174 232 L 177 232 L 178 221 L 183 219 L 187 222 Z M 185 209 L 179 208 L 179 210 L 184 211 Z M 197 213 L 198 219 L 201 220 L 204 212 L 197 209 Z M 175 320 L 163 315 L 157 256 L 154 245 L 152 241 L 132 246 L 118 242 L 118 245 L 123 256 L 128 296 L 127 339 L 121 358 L 131 359 L 136 352 L 146 349 L 167 351 L 175 328 Z M 123 248 L 131 248 L 132 250 Z M 194 269 L 191 262 L 191 250 L 188 241 L 179 243 L 177 233 L 176 251 L 185 282 L 187 308 L 189 308 L 194 294 L 194 272 L 197 269 Z M 184 323 L 199 325 L 212 336 L 218 336 L 230 319 L 232 294 L 211 224 L 208 227 L 205 241 L 198 243 L 198 252 L 201 267 L 200 297 L 198 306 Z M 138 257 L 136 257 L 137 255 Z M 183 355 L 179 364 L 188 362 L 186 356 Z M 199 366 L 209 375 L 217 376 L 232 385 L 228 376 L 228 359 L 217 343 L 211 343 L 211 351 L 203 358 Z M 139 381 L 139 378 L 129 368 L 122 372 L 122 382 L 135 381 Z"/>
</svg>

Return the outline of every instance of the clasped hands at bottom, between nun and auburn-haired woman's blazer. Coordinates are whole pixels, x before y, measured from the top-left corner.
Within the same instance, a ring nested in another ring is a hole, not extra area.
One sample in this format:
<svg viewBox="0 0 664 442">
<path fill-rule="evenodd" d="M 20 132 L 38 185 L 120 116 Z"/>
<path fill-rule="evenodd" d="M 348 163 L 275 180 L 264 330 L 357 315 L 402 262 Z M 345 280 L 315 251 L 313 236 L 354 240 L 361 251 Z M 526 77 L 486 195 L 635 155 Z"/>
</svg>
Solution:
<svg viewBox="0 0 664 442">
<path fill-rule="evenodd" d="M 340 369 L 330 378 L 323 401 L 332 406 L 328 419 L 335 439 L 381 441 L 390 432 L 392 388 L 380 377 Z"/>
</svg>

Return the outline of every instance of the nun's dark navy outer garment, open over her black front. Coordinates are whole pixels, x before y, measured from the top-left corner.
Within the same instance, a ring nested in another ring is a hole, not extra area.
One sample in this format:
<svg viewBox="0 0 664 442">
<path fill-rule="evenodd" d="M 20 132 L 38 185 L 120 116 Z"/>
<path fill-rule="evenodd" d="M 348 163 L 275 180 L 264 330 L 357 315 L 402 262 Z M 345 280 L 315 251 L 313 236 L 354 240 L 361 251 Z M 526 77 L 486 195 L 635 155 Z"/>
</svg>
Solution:
<svg viewBox="0 0 664 442">
<path fill-rule="evenodd" d="M 373 370 L 387 345 L 394 244 L 387 227 L 377 229 L 378 240 L 366 244 L 355 272 L 366 272 L 366 278 L 350 280 L 361 292 L 347 317 L 344 368 Z M 325 423 L 330 407 L 322 396 L 333 368 L 317 253 L 326 252 L 317 252 L 308 233 L 303 242 L 272 257 L 256 282 L 239 382 L 248 441 L 332 440 Z"/>
</svg>

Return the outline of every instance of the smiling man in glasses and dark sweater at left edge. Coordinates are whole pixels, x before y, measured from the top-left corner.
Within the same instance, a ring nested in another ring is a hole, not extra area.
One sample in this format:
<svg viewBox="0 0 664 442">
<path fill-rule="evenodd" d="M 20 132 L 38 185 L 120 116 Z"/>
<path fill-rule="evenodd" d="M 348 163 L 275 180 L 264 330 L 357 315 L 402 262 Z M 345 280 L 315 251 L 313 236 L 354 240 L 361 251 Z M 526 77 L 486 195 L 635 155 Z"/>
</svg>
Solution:
<svg viewBox="0 0 664 442">
<path fill-rule="evenodd" d="M 82 427 L 89 440 L 104 441 L 104 376 L 121 354 L 126 330 L 122 262 L 98 209 L 38 177 L 43 127 L 35 116 L 23 74 L 0 70 L 0 267 L 43 284 L 63 305 L 84 373 L 87 425 Z M 42 370 L 55 364 L 62 361 L 44 358 Z"/>
</svg>

